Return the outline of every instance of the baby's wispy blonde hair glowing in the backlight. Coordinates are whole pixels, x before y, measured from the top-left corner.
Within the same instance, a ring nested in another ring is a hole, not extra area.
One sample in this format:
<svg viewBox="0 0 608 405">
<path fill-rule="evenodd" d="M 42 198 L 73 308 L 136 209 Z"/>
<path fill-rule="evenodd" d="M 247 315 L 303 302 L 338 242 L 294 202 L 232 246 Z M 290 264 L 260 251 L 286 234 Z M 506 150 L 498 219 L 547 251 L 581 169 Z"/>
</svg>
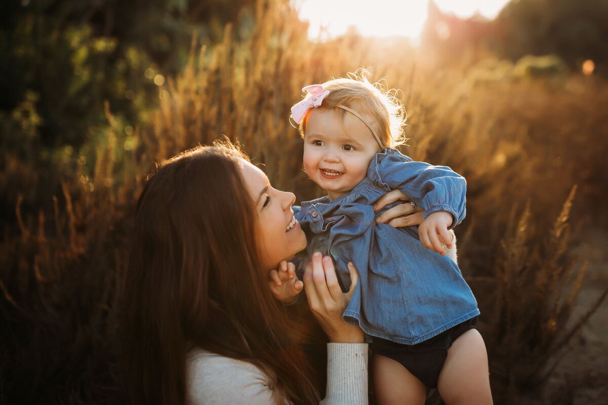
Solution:
<svg viewBox="0 0 608 405">
<path fill-rule="evenodd" d="M 368 70 L 361 67 L 355 72 L 348 73 L 348 78 L 326 81 L 321 86 L 323 86 L 323 90 L 330 90 L 330 94 L 323 98 L 321 106 L 337 108 L 342 105 L 359 114 L 367 113 L 373 117 L 370 124 L 378 134 L 384 148 L 404 145 L 407 141 L 404 134 L 407 115 L 401 100 L 395 97 L 396 90 L 386 90 L 379 82 L 371 84 L 367 80 L 368 75 Z M 340 109 L 340 112 L 350 114 L 344 109 Z M 308 118 L 308 113 L 298 128 L 302 138 L 306 118 Z"/>
</svg>

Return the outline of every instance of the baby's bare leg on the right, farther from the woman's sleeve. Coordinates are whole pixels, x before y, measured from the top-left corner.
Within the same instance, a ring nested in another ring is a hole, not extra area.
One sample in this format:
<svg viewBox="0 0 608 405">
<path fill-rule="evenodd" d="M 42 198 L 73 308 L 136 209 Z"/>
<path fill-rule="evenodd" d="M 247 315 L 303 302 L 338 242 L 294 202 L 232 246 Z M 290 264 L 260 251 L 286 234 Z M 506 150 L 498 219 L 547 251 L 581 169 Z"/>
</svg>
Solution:
<svg viewBox="0 0 608 405">
<path fill-rule="evenodd" d="M 437 389 L 448 405 L 492 404 L 488 354 L 476 329 L 463 333 L 447 349 Z"/>
</svg>

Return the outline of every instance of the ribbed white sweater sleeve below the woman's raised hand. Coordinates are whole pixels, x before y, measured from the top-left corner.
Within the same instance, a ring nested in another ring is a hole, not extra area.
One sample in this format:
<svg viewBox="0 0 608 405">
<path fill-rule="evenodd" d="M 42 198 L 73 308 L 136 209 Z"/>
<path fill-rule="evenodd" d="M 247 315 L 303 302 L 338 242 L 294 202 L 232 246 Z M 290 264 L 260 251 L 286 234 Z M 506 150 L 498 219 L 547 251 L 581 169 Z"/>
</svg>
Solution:
<svg viewBox="0 0 608 405">
<path fill-rule="evenodd" d="M 327 389 L 322 405 L 367 405 L 367 343 L 327 345 Z"/>
</svg>

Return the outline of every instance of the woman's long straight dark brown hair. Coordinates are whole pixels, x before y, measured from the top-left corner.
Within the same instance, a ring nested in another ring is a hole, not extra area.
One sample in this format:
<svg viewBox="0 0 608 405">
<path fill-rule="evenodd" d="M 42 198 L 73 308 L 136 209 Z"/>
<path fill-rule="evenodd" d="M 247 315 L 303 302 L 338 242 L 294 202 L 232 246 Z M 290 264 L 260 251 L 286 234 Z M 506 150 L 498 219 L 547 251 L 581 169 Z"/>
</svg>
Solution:
<svg viewBox="0 0 608 405">
<path fill-rule="evenodd" d="M 318 403 L 299 326 L 260 268 L 257 213 L 237 147 L 183 152 L 148 179 L 123 282 L 123 387 L 130 403 L 185 403 L 185 358 L 201 347 L 274 378 L 277 395 Z"/>
</svg>

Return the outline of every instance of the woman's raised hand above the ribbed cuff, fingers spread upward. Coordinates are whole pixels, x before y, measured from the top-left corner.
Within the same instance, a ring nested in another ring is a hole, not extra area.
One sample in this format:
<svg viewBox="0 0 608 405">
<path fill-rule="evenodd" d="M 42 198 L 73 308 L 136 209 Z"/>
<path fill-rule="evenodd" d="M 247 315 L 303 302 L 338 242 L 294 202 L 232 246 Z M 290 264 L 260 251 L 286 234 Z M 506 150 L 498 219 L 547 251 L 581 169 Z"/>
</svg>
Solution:
<svg viewBox="0 0 608 405">
<path fill-rule="evenodd" d="M 308 305 L 313 315 L 333 343 L 362 343 L 363 331 L 358 326 L 347 324 L 342 313 L 353 296 L 359 281 L 359 273 L 352 263 L 350 271 L 350 290 L 343 293 L 338 284 L 336 271 L 331 257 L 319 252 L 313 254 L 313 260 L 306 266 L 304 273 L 304 290 Z"/>
</svg>

